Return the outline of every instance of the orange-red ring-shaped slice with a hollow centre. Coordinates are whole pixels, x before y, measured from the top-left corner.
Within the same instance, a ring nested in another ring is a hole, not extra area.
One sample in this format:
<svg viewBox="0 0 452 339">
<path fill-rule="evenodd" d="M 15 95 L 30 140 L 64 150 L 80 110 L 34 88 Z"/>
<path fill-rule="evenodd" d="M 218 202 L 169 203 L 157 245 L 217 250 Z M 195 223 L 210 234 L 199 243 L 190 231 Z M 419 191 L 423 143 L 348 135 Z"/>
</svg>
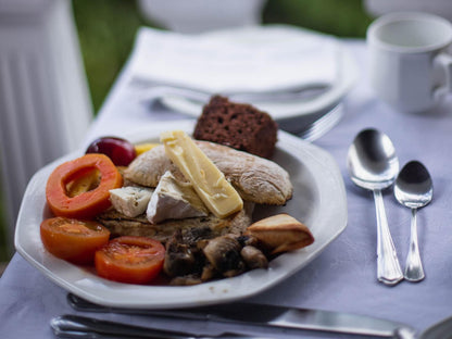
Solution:
<svg viewBox="0 0 452 339">
<path fill-rule="evenodd" d="M 99 185 L 88 191 L 71 197 L 67 186 L 80 175 L 92 170 L 100 173 Z M 86 154 L 58 166 L 49 176 L 46 198 L 50 210 L 56 216 L 91 218 L 111 206 L 110 190 L 123 185 L 123 177 L 116 166 L 104 154 Z"/>
</svg>

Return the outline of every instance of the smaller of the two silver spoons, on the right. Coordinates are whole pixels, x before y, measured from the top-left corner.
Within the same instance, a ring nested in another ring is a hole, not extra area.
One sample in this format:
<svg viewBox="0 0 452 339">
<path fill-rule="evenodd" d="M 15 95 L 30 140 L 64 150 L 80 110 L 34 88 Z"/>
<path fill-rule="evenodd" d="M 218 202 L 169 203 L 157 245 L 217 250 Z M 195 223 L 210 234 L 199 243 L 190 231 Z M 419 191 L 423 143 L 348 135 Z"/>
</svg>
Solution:
<svg viewBox="0 0 452 339">
<path fill-rule="evenodd" d="M 430 174 L 420 162 L 411 161 L 403 166 L 395 179 L 394 196 L 402 205 L 412 211 L 410 250 L 404 271 L 405 279 L 410 281 L 420 281 L 425 277 L 417 243 L 416 212 L 431 201 L 432 194 Z"/>
</svg>

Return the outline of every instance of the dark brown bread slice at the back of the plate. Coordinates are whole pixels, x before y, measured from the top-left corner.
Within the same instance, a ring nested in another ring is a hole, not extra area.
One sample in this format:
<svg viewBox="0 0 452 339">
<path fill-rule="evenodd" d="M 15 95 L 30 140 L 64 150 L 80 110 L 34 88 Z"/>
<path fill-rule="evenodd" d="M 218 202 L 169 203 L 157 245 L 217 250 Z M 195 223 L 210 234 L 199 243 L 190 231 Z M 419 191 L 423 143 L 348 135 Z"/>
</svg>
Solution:
<svg viewBox="0 0 452 339">
<path fill-rule="evenodd" d="M 262 158 L 272 158 L 278 125 L 251 104 L 212 97 L 194 126 L 193 138 L 213 141 Z"/>
</svg>

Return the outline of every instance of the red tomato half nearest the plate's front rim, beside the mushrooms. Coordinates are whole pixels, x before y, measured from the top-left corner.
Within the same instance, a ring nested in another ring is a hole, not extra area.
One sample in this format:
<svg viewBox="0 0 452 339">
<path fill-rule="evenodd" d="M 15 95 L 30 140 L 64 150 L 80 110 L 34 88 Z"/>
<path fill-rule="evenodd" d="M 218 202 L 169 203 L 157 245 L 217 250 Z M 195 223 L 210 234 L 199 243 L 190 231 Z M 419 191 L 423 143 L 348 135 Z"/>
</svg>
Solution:
<svg viewBox="0 0 452 339">
<path fill-rule="evenodd" d="M 99 276 L 120 282 L 147 284 L 162 271 L 165 248 L 146 237 L 118 237 L 96 252 Z"/>
</svg>

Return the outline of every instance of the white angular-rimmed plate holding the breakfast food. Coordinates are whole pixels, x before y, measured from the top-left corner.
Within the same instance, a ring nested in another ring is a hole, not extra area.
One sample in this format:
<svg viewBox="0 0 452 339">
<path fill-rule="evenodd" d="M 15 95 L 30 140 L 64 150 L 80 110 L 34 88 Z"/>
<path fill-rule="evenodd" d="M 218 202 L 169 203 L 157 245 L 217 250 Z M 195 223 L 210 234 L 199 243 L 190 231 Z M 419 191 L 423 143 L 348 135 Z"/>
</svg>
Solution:
<svg viewBox="0 0 452 339">
<path fill-rule="evenodd" d="M 174 127 L 191 131 L 192 122 L 175 122 Z M 129 135 L 134 142 L 158 140 L 159 128 L 141 129 Z M 39 225 L 50 216 L 45 186 L 52 170 L 60 163 L 81 155 L 68 154 L 41 168 L 26 189 L 15 231 L 15 248 L 43 275 L 91 302 L 137 309 L 198 306 L 239 300 L 262 292 L 288 278 L 321 252 L 347 226 L 347 197 L 343 180 L 335 160 L 322 149 L 284 131 L 279 133 L 274 160 L 291 175 L 294 196 L 286 206 L 262 209 L 256 217 L 284 211 L 304 222 L 315 242 L 304 249 L 273 260 L 268 269 L 255 269 L 240 276 L 197 286 L 136 286 L 98 277 L 92 269 L 70 264 L 48 253 L 39 237 Z M 265 211 L 263 211 L 265 210 Z"/>
</svg>

